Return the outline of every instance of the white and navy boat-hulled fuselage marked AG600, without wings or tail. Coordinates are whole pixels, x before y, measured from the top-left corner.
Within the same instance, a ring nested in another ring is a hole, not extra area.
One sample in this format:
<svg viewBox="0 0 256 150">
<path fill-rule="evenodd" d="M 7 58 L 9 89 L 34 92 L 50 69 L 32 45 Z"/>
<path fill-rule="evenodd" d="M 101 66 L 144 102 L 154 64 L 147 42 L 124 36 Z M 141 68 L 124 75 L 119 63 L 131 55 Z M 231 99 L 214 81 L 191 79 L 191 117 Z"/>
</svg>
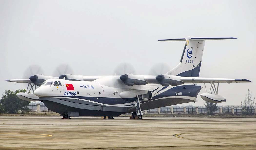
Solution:
<svg viewBox="0 0 256 150">
<path fill-rule="evenodd" d="M 196 96 L 201 89 L 201 86 L 195 85 L 128 86 L 118 78 L 119 76 L 102 76 L 95 81 L 48 79 L 35 90 L 34 94 L 46 104 L 47 108 L 58 113 L 69 110 L 85 116 L 118 116 L 135 110 L 136 95 L 134 94 L 140 91 L 152 92 L 152 99 L 141 99 L 141 108 L 146 110 L 196 101 Z M 58 84 L 54 85 L 56 82 Z M 129 90 L 132 92 L 128 93 L 127 98 L 120 97 L 120 93 Z"/>
</svg>

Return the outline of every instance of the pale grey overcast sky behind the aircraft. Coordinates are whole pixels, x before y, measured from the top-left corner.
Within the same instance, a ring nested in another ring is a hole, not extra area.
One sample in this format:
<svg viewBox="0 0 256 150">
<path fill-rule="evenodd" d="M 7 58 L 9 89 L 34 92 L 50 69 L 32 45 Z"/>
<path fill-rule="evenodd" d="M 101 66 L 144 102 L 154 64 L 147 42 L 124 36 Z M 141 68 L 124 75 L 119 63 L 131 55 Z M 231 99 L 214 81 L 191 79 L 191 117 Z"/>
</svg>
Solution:
<svg viewBox="0 0 256 150">
<path fill-rule="evenodd" d="M 157 63 L 178 65 L 183 51 L 184 41 L 158 39 L 236 37 L 205 42 L 199 76 L 251 80 L 220 83 L 221 104 L 240 105 L 248 88 L 256 95 L 255 2 L 0 0 L 0 92 L 25 88 L 5 80 L 23 78 L 30 65 L 49 76 L 60 64 L 73 74 L 112 75 L 127 62 L 147 75 Z M 199 95 L 188 104 L 203 105 Z"/>
</svg>

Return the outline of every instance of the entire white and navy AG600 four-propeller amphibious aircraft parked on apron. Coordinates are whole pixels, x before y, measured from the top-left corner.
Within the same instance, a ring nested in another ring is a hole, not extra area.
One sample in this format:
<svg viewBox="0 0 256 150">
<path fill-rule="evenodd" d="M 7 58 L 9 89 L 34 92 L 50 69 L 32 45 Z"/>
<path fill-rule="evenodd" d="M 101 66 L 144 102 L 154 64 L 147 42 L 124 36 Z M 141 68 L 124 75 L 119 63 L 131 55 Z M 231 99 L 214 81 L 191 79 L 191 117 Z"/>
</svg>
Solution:
<svg viewBox="0 0 256 150">
<path fill-rule="evenodd" d="M 227 99 L 218 94 L 219 83 L 251 82 L 246 79 L 199 77 L 206 40 L 237 39 L 187 37 L 158 41 L 185 41 L 179 64 L 157 76 L 125 73 L 121 76 L 82 76 L 63 74 L 59 77 L 36 74 L 29 79 L 6 80 L 28 83 L 20 99 L 42 101 L 45 106 L 64 118 L 71 116 L 119 116 L 132 113 L 142 118 L 142 110 L 195 102 L 201 86 L 210 89 L 200 94 L 205 101 L 219 103 Z M 36 88 L 36 86 L 40 86 Z M 217 88 L 216 88 L 217 86 Z M 205 88 L 206 89 L 206 88 Z"/>
</svg>

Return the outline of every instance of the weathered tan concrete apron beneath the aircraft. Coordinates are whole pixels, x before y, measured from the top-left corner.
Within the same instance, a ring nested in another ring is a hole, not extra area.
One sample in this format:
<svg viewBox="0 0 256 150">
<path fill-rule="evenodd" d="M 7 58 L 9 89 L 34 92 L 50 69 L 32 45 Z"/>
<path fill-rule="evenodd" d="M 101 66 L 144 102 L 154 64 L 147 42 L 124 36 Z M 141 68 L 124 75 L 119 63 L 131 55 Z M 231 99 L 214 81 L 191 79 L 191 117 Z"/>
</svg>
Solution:
<svg viewBox="0 0 256 150">
<path fill-rule="evenodd" d="M 256 118 L 0 117 L 0 149 L 256 149 Z"/>
</svg>

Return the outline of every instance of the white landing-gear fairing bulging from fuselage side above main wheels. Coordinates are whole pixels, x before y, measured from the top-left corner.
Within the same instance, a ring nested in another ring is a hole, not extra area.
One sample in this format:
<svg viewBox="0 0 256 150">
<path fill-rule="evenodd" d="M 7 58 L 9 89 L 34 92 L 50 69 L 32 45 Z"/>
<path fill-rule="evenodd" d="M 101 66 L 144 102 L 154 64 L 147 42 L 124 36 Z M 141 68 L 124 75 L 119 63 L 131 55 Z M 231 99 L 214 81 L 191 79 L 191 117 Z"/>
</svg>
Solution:
<svg viewBox="0 0 256 150">
<path fill-rule="evenodd" d="M 130 89 L 127 91 L 123 91 L 119 94 L 119 96 L 123 99 L 136 99 L 136 96 L 139 95 L 140 100 L 151 100 L 152 99 L 152 92 L 147 90 L 139 90 L 139 89 Z"/>
</svg>

